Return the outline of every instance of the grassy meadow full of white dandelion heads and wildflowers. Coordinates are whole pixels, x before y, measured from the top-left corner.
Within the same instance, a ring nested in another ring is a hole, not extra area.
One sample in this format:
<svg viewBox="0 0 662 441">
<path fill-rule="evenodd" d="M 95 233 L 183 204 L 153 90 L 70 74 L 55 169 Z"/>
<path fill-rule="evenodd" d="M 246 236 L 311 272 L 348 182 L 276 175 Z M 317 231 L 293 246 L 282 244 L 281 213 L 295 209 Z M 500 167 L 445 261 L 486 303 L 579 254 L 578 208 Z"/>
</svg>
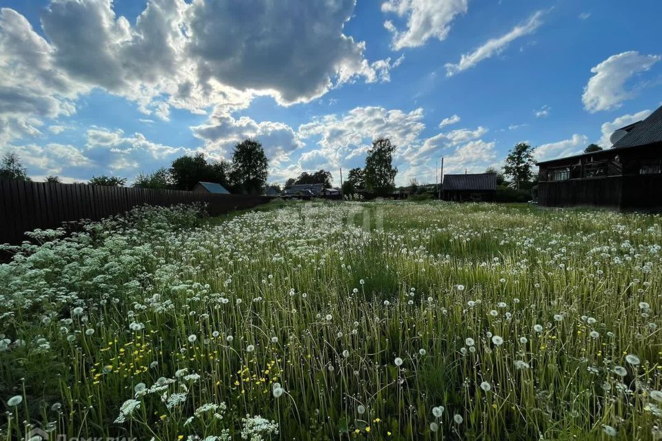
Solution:
<svg viewBox="0 0 662 441">
<path fill-rule="evenodd" d="M 272 208 L 35 234 L 0 265 L 0 439 L 661 437 L 659 216 Z"/>
</svg>

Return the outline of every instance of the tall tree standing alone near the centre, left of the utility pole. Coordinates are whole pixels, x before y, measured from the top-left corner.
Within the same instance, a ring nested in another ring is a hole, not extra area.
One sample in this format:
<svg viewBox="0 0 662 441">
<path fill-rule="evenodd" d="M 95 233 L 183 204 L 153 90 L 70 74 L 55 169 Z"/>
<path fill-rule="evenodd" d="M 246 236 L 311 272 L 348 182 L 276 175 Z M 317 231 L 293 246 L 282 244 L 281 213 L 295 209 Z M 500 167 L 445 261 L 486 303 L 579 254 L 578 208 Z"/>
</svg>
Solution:
<svg viewBox="0 0 662 441">
<path fill-rule="evenodd" d="M 398 173 L 392 165 L 395 148 L 388 138 L 372 141 L 368 156 L 365 156 L 365 187 L 370 192 L 385 196 L 393 191 Z"/>
</svg>

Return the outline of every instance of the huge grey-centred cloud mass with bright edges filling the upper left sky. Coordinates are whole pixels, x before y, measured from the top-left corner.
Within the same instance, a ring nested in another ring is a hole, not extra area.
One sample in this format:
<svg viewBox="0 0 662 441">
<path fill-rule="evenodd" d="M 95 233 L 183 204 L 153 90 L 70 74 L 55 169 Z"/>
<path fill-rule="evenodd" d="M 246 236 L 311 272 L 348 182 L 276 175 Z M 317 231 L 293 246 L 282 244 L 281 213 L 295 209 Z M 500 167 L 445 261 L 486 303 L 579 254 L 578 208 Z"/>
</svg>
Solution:
<svg viewBox="0 0 662 441">
<path fill-rule="evenodd" d="M 389 81 L 402 57 L 373 61 L 343 34 L 354 0 L 148 0 L 134 23 L 112 0 L 53 0 L 43 38 L 0 10 L 0 142 L 41 134 L 93 88 L 135 101 L 163 121 L 171 107 L 230 112 L 254 96 L 308 102 L 347 81 Z"/>
</svg>

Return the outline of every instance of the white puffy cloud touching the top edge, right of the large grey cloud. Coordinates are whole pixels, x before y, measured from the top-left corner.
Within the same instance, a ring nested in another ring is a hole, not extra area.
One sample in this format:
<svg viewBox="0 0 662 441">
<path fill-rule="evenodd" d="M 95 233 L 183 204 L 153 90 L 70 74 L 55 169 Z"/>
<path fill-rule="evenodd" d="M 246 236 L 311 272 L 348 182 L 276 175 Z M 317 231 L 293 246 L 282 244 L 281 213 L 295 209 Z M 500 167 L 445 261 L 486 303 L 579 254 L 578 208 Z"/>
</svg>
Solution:
<svg viewBox="0 0 662 441">
<path fill-rule="evenodd" d="M 392 48 L 416 48 L 431 38 L 443 40 L 457 14 L 467 12 L 467 0 L 388 0 L 381 5 L 382 12 L 407 17 L 407 30 L 398 30 L 392 21 L 384 27 L 393 34 Z"/>
</svg>

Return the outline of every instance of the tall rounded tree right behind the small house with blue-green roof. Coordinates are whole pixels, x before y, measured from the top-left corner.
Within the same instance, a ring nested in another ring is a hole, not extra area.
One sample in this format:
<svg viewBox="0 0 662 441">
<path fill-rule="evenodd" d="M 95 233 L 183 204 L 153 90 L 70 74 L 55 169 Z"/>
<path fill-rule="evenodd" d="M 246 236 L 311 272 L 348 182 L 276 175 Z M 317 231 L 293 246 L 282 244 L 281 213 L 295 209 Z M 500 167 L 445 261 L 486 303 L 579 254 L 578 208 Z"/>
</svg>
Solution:
<svg viewBox="0 0 662 441">
<path fill-rule="evenodd" d="M 241 141 L 232 152 L 232 186 L 241 193 L 259 194 L 267 183 L 267 166 L 267 156 L 259 141 Z"/>
</svg>

